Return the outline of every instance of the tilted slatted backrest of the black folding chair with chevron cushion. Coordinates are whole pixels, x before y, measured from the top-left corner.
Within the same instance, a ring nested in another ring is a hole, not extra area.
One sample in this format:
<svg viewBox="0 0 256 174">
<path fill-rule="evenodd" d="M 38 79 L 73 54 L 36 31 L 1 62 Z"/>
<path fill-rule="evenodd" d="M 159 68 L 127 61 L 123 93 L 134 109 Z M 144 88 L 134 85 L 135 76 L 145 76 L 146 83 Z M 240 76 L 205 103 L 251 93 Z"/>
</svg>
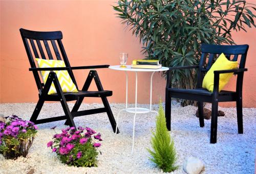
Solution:
<svg viewBox="0 0 256 174">
<path fill-rule="evenodd" d="M 61 42 L 62 33 L 61 31 L 56 32 L 36 32 L 25 29 L 19 29 L 20 34 L 25 45 L 25 49 L 29 58 L 31 68 L 36 68 L 35 58 L 49 59 L 49 60 L 63 60 L 67 67 L 70 67 L 70 63 L 65 52 L 64 46 Z M 33 54 L 32 54 L 32 51 Z M 54 52 L 54 55 L 52 54 Z M 74 74 L 68 69 L 70 77 L 77 87 L 77 83 L 74 78 Z M 36 85 L 39 91 L 42 91 L 44 83 L 39 78 L 39 72 L 33 71 Z"/>
</svg>

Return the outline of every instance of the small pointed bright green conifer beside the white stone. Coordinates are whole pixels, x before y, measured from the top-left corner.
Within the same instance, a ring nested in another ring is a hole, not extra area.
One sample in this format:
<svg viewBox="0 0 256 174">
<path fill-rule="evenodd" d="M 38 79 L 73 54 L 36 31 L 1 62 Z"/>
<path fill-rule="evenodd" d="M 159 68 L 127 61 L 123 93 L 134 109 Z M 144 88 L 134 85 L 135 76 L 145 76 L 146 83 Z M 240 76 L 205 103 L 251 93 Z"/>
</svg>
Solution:
<svg viewBox="0 0 256 174">
<path fill-rule="evenodd" d="M 153 132 L 151 139 L 153 151 L 148 149 L 151 154 L 151 161 L 161 168 L 164 172 L 174 171 L 178 168 L 176 163 L 176 151 L 174 141 L 166 128 L 163 106 L 159 104 L 159 115 L 156 117 L 156 132 Z"/>
</svg>

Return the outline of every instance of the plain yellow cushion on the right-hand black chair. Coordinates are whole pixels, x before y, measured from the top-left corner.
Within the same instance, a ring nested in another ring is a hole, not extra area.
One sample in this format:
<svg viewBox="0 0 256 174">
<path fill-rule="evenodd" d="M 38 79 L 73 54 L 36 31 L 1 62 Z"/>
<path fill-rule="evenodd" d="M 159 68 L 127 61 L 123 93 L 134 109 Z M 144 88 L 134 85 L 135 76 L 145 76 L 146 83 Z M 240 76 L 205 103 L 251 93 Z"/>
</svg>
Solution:
<svg viewBox="0 0 256 174">
<path fill-rule="evenodd" d="M 203 79 L 203 88 L 206 88 L 208 91 L 212 92 L 214 90 L 214 71 L 216 70 L 229 70 L 236 69 L 238 62 L 229 61 L 225 55 L 222 53 L 215 63 L 211 66 L 208 72 L 205 74 Z M 219 81 L 219 91 L 221 91 L 224 86 L 228 83 L 229 79 L 232 77 L 231 73 L 221 73 Z"/>
</svg>

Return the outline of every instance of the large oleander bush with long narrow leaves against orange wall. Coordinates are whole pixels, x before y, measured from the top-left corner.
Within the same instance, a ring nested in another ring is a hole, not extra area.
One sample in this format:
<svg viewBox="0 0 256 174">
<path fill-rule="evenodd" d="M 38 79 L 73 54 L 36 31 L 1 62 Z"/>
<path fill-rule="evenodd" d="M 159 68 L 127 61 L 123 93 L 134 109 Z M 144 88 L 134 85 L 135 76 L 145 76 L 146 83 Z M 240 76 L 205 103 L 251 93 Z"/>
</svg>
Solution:
<svg viewBox="0 0 256 174">
<path fill-rule="evenodd" d="M 164 66 L 198 65 L 201 43 L 234 44 L 232 31 L 255 27 L 255 5 L 242 0 L 119 0 L 114 6 L 147 59 Z M 194 69 L 175 70 L 173 85 L 191 89 Z"/>
</svg>

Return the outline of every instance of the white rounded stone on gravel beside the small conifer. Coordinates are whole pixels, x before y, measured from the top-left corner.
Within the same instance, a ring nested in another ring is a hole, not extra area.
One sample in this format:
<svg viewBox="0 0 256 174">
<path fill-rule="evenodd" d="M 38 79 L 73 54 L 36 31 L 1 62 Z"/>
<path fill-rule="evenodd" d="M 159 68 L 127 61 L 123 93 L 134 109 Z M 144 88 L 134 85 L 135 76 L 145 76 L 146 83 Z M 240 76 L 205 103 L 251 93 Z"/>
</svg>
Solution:
<svg viewBox="0 0 256 174">
<path fill-rule="evenodd" d="M 204 169 L 204 163 L 198 158 L 187 157 L 183 169 L 188 174 L 199 174 Z"/>
</svg>

